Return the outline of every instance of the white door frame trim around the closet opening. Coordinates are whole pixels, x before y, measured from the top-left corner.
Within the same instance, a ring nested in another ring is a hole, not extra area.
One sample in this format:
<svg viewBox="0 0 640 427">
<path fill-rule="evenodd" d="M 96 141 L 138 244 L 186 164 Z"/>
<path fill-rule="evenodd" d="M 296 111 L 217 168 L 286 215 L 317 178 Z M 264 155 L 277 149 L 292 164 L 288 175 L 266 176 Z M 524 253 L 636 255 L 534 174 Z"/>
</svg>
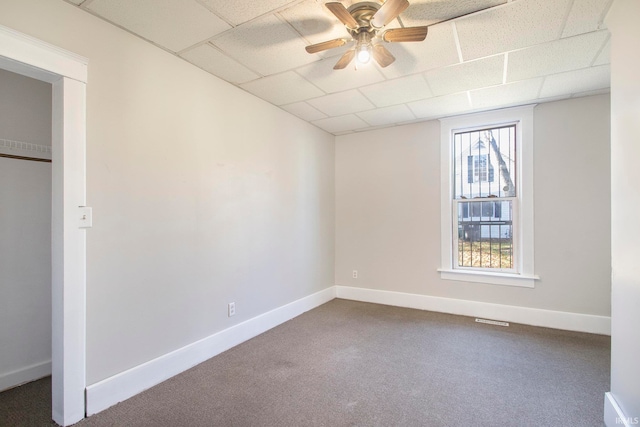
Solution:
<svg viewBox="0 0 640 427">
<path fill-rule="evenodd" d="M 87 59 L 0 26 L 0 68 L 52 83 L 52 416 L 85 416 Z"/>
</svg>

